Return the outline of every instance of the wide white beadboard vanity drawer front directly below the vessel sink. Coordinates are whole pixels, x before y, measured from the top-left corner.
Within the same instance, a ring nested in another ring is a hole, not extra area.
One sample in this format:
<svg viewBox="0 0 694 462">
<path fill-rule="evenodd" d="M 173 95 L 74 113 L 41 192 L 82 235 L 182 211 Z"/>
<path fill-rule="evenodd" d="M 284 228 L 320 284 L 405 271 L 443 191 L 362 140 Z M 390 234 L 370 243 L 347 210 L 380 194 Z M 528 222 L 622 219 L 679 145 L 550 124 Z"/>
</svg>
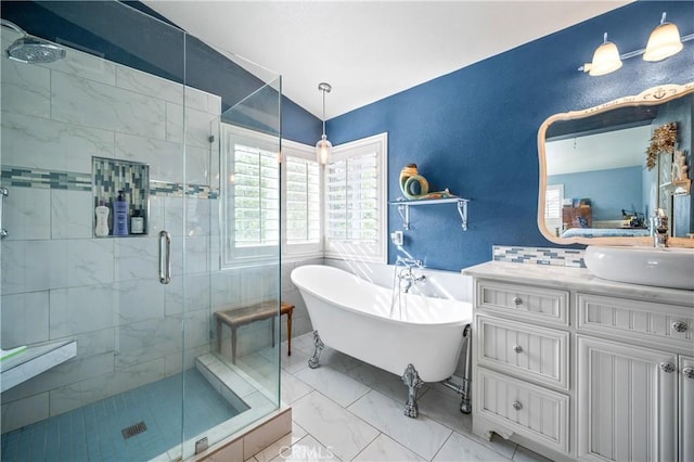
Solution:
<svg viewBox="0 0 694 462">
<path fill-rule="evenodd" d="M 635 341 L 682 347 L 694 341 L 694 306 L 628 300 L 601 295 L 576 295 L 579 332 L 619 334 Z"/>
</svg>

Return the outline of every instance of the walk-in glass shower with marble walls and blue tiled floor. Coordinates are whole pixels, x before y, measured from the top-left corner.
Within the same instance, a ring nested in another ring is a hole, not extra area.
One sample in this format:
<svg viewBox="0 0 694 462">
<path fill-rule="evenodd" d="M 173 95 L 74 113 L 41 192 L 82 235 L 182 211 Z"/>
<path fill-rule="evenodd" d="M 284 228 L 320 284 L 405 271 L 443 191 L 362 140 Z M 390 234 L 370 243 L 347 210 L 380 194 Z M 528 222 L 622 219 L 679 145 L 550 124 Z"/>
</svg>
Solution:
<svg viewBox="0 0 694 462">
<path fill-rule="evenodd" d="M 280 77 L 116 1 L 0 11 L 2 461 L 185 459 L 275 411 Z"/>
</svg>

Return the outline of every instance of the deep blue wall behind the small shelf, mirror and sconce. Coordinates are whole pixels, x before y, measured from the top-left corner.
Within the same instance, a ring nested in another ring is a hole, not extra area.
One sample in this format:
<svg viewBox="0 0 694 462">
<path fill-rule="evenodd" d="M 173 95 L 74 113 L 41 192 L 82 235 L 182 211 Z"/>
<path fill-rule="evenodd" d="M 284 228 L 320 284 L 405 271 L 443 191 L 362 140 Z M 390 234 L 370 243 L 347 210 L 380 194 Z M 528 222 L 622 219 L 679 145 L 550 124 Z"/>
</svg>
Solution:
<svg viewBox="0 0 694 462">
<path fill-rule="evenodd" d="M 537 133 L 552 114 L 591 107 L 661 84 L 694 80 L 694 42 L 659 63 L 626 60 L 602 77 L 577 72 L 604 31 L 622 53 L 642 49 L 667 11 L 694 33 L 694 2 L 640 1 L 358 108 L 326 124 L 333 144 L 388 132 L 388 200 L 415 163 L 433 190 L 471 200 L 468 230 L 453 205 L 410 209 L 406 249 L 428 267 L 460 270 L 491 259 L 491 246 L 555 246 L 537 226 Z M 492 27 L 492 25 L 490 25 Z M 461 43 L 474 47 L 474 43 Z M 412 63 L 416 66 L 416 63 Z M 401 229 L 389 207 L 388 231 Z M 398 249 L 389 244 L 389 262 Z"/>
</svg>

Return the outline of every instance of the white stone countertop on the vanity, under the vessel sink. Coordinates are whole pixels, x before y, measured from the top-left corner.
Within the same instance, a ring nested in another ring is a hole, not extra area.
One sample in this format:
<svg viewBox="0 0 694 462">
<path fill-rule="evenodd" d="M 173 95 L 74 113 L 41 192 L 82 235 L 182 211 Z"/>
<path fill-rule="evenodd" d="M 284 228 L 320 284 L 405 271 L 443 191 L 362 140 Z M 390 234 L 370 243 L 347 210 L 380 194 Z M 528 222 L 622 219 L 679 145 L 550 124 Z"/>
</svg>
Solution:
<svg viewBox="0 0 694 462">
<path fill-rule="evenodd" d="M 643 301 L 684 305 L 694 309 L 694 291 L 613 282 L 592 275 L 586 268 L 488 261 L 462 270 L 465 275 L 576 290 Z"/>
</svg>

